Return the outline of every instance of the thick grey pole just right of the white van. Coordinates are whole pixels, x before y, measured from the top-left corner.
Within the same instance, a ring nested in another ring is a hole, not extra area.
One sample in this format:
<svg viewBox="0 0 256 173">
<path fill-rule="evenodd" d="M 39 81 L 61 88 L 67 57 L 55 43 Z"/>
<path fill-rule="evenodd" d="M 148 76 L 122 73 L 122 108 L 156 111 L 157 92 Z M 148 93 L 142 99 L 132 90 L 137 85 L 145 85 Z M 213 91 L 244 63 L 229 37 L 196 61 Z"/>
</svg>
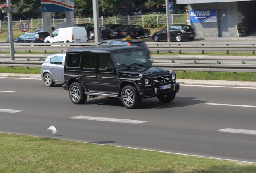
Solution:
<svg viewBox="0 0 256 173">
<path fill-rule="evenodd" d="M 99 35 L 99 2 L 93 0 L 93 25 L 94 25 L 94 41 L 95 43 L 100 42 Z"/>
</svg>

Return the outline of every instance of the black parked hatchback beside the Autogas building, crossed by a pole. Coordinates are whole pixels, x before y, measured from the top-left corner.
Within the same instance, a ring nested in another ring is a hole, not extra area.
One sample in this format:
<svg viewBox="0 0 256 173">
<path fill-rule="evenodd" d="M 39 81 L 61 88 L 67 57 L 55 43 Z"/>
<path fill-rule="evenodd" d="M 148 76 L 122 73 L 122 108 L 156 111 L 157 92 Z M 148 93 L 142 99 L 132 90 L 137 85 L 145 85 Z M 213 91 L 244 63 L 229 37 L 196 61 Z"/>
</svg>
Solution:
<svg viewBox="0 0 256 173">
<path fill-rule="evenodd" d="M 170 36 L 171 40 L 176 40 L 178 42 L 187 38 L 188 40 L 194 40 L 196 32 L 190 25 L 172 25 L 170 26 Z M 163 28 L 159 32 L 155 32 L 152 35 L 152 40 L 159 42 L 160 40 L 167 40 L 167 27 Z"/>
</svg>

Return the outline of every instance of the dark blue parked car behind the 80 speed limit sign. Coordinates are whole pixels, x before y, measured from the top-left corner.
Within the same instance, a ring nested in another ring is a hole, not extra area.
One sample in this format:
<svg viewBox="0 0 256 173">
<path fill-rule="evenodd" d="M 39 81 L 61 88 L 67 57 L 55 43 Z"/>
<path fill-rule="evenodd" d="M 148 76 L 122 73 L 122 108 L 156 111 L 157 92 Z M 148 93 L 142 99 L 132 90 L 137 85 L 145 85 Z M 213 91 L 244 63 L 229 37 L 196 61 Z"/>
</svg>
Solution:
<svg viewBox="0 0 256 173">
<path fill-rule="evenodd" d="M 25 32 L 13 41 L 14 43 L 43 43 L 47 36 L 50 36 L 48 32 Z"/>
</svg>

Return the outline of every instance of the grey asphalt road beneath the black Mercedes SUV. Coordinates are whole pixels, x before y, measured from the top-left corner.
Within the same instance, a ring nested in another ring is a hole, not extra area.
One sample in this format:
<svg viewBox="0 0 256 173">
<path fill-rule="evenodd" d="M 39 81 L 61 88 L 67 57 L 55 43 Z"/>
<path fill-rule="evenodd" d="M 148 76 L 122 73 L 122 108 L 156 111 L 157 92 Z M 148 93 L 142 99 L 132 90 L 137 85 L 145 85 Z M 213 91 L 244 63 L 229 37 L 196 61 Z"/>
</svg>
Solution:
<svg viewBox="0 0 256 173">
<path fill-rule="evenodd" d="M 255 99 L 255 88 L 183 84 L 171 103 L 149 98 L 138 109 L 126 109 L 120 99 L 96 97 L 74 105 L 62 84 L 47 88 L 42 80 L 0 78 L 0 131 L 256 162 Z M 54 135 L 47 130 L 52 125 Z"/>
</svg>

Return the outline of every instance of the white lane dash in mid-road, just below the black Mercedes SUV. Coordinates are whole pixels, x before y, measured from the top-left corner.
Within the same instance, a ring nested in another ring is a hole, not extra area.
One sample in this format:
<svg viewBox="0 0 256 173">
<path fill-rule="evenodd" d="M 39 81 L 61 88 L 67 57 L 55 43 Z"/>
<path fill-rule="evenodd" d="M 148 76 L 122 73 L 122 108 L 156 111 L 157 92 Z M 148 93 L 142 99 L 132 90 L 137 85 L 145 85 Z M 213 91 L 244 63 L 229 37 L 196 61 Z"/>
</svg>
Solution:
<svg viewBox="0 0 256 173">
<path fill-rule="evenodd" d="M 70 117 L 72 119 L 85 119 L 85 120 L 94 120 L 94 121 L 109 121 L 109 122 L 116 122 L 116 123 L 130 123 L 130 124 L 139 124 L 145 123 L 147 121 L 140 121 L 140 120 L 130 120 L 130 119 L 115 119 L 115 118 L 105 118 L 105 117 L 91 117 L 91 116 L 76 116 Z"/>
</svg>

